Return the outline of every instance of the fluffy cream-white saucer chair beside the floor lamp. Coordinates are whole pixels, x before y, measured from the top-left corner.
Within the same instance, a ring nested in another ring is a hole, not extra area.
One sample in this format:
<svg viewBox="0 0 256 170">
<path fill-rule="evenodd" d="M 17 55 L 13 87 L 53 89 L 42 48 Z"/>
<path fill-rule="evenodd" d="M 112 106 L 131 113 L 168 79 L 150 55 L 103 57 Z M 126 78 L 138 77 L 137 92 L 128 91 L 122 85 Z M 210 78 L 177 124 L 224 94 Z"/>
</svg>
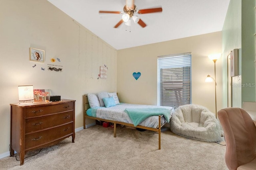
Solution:
<svg viewBox="0 0 256 170">
<path fill-rule="evenodd" d="M 170 120 L 173 133 L 206 142 L 217 142 L 221 139 L 220 123 L 214 113 L 204 106 L 184 105 L 178 107 Z"/>
</svg>

